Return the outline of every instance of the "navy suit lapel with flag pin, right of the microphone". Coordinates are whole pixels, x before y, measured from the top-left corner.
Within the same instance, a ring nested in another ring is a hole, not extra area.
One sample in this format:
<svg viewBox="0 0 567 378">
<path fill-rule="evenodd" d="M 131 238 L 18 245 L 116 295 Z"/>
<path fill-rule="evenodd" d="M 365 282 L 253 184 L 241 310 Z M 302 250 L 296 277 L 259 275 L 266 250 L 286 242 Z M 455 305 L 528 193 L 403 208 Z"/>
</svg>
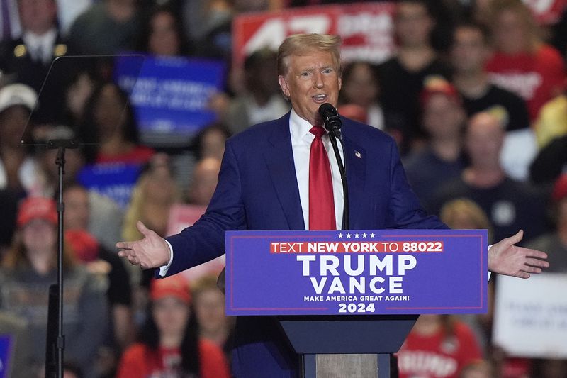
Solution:
<svg viewBox="0 0 567 378">
<path fill-rule="evenodd" d="M 343 118 L 343 123 L 344 122 Z M 352 128 L 352 126 L 350 126 Z M 361 223 L 360 217 L 366 213 L 360 199 L 364 196 L 366 172 L 366 150 L 349 138 L 349 127 L 343 127 L 344 160 L 346 162 L 347 184 L 349 185 L 349 226 L 354 229 Z M 356 216 L 354 216 L 356 214 Z"/>
</svg>

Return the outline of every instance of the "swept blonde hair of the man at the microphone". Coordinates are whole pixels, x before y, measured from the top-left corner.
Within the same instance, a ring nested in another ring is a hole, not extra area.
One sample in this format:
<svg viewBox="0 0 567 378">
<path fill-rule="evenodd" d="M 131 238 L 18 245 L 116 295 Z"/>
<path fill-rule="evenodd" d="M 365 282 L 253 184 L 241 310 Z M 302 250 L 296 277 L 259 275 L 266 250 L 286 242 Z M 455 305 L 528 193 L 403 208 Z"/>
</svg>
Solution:
<svg viewBox="0 0 567 378">
<path fill-rule="evenodd" d="M 327 51 L 340 72 L 342 40 L 338 35 L 330 34 L 295 34 L 290 35 L 278 49 L 278 75 L 285 76 L 289 70 L 291 55 L 308 55 L 313 51 Z"/>
</svg>

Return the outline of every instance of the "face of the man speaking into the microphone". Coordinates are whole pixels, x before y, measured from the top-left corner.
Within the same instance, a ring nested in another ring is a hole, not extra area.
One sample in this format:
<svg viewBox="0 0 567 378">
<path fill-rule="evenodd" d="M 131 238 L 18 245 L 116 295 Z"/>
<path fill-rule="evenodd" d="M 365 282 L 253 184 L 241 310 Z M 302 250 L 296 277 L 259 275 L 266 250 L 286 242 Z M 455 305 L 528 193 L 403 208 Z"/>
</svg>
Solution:
<svg viewBox="0 0 567 378">
<path fill-rule="evenodd" d="M 298 116 L 312 125 L 320 123 L 319 106 L 337 106 L 341 78 L 339 67 L 327 51 L 288 57 L 288 72 L 278 77 L 281 91 L 291 101 Z"/>
</svg>

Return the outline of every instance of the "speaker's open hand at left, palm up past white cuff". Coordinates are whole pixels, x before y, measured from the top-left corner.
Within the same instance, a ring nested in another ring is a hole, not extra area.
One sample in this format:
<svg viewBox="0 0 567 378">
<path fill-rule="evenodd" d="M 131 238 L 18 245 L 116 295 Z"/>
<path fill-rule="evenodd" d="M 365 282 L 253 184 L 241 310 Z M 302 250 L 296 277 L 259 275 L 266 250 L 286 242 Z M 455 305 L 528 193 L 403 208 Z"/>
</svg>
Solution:
<svg viewBox="0 0 567 378">
<path fill-rule="evenodd" d="M 135 242 L 118 242 L 118 256 L 126 257 L 130 264 L 140 265 L 143 269 L 158 268 L 169 262 L 170 250 L 167 242 L 144 223 L 137 221 L 137 230 L 144 235 Z"/>
</svg>

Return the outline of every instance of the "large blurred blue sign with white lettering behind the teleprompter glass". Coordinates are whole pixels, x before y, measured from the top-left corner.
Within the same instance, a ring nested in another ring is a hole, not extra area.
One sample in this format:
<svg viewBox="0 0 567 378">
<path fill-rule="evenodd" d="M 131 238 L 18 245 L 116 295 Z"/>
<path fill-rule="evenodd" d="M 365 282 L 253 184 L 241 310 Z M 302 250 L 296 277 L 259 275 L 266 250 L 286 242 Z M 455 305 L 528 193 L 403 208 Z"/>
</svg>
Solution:
<svg viewBox="0 0 567 378">
<path fill-rule="evenodd" d="M 207 104 L 223 88 L 224 76 L 223 62 L 186 57 L 147 56 L 141 68 L 137 60 L 119 57 L 115 71 L 147 145 L 186 144 L 215 121 Z"/>
</svg>

